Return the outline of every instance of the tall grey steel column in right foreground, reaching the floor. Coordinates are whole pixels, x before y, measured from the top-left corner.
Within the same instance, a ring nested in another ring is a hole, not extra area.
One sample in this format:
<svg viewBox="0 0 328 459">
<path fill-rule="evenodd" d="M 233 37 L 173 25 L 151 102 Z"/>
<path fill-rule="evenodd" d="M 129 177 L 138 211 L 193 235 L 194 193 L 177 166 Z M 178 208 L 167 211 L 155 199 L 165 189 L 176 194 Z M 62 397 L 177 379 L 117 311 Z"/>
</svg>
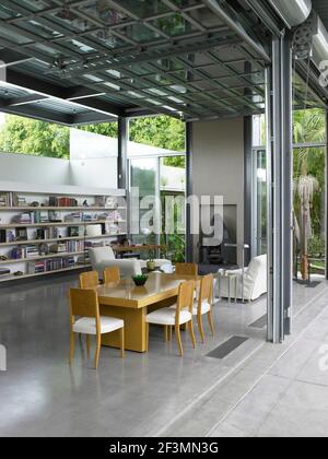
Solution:
<svg viewBox="0 0 328 459">
<path fill-rule="evenodd" d="M 267 70 L 268 148 L 268 339 L 283 342 L 292 308 L 292 50 L 273 38 Z"/>
</svg>

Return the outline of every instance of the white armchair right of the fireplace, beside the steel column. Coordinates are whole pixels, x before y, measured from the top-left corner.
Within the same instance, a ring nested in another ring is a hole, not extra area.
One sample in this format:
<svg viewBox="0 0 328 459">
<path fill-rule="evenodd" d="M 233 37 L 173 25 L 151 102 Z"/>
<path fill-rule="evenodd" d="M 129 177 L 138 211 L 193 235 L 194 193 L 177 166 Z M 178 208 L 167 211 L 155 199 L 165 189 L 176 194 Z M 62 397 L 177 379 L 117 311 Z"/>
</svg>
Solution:
<svg viewBox="0 0 328 459">
<path fill-rule="evenodd" d="M 244 298 L 245 301 L 253 302 L 261 295 L 268 293 L 268 257 L 261 255 L 254 258 L 248 268 L 245 268 L 244 274 Z M 231 297 L 238 299 L 243 298 L 243 270 L 231 270 L 227 273 L 233 273 L 237 276 L 236 289 L 234 291 L 235 282 L 231 282 Z M 236 295 L 235 295 L 236 294 Z M 215 296 L 227 298 L 229 297 L 229 279 L 221 278 L 220 282 L 215 284 Z"/>
</svg>

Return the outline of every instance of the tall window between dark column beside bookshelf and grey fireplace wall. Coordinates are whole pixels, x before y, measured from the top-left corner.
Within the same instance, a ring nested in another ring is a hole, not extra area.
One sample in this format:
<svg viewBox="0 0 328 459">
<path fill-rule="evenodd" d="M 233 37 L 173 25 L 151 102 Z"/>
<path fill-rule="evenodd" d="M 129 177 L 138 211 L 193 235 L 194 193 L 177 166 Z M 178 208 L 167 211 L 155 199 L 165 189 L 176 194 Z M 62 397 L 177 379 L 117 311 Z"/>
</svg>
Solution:
<svg viewBox="0 0 328 459">
<path fill-rule="evenodd" d="M 139 188 L 140 202 L 145 196 L 153 196 L 161 201 L 162 205 L 162 215 L 156 210 L 154 217 L 156 222 L 152 222 L 156 223 L 161 234 L 152 235 L 151 242 L 167 246 L 166 256 L 174 262 L 184 261 L 186 250 L 185 123 L 167 116 L 136 119 L 130 122 L 130 141 L 128 152 L 130 187 Z M 142 234 L 142 217 L 147 213 L 147 209 L 139 210 L 140 234 L 132 236 L 134 243 L 150 242 L 150 237 Z M 167 224 L 168 216 L 169 225 Z"/>
</svg>

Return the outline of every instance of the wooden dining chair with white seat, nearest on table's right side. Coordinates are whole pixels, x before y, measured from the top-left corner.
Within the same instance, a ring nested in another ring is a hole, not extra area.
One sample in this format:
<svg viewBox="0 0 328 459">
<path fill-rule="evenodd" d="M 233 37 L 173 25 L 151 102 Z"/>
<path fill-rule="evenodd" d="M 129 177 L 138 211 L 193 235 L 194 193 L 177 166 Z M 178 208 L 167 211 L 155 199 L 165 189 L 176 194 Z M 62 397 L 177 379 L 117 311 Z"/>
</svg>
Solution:
<svg viewBox="0 0 328 459">
<path fill-rule="evenodd" d="M 180 356 L 184 355 L 180 326 L 187 323 L 194 349 L 196 348 L 196 339 L 192 326 L 192 308 L 194 308 L 195 281 L 183 282 L 179 285 L 179 293 L 176 308 L 166 307 L 155 310 L 147 316 L 147 350 L 149 349 L 149 326 L 150 323 L 166 327 L 175 327 L 175 336 Z"/>
</svg>

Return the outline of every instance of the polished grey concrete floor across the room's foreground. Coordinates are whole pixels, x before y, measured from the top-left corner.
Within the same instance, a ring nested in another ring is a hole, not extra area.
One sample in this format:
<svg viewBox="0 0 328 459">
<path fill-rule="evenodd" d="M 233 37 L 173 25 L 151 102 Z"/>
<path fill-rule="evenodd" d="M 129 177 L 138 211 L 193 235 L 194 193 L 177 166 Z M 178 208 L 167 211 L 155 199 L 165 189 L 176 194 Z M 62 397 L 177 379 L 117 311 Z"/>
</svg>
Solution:
<svg viewBox="0 0 328 459">
<path fill-rule="evenodd" d="M 0 436 L 328 434 L 328 375 L 316 367 L 328 338 L 326 284 L 296 286 L 295 332 L 283 345 L 267 344 L 265 329 L 249 328 L 266 313 L 265 298 L 223 302 L 214 309 L 215 337 L 206 345 L 197 337 L 194 351 L 186 334 L 184 358 L 152 328 L 149 354 L 122 361 L 105 348 L 95 372 L 84 346 L 71 369 L 67 363 L 67 293 L 74 283 L 69 276 L 1 290 L 8 372 L 0 373 Z M 235 334 L 249 339 L 223 361 L 207 357 Z"/>
</svg>

